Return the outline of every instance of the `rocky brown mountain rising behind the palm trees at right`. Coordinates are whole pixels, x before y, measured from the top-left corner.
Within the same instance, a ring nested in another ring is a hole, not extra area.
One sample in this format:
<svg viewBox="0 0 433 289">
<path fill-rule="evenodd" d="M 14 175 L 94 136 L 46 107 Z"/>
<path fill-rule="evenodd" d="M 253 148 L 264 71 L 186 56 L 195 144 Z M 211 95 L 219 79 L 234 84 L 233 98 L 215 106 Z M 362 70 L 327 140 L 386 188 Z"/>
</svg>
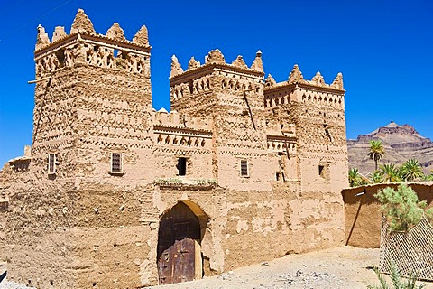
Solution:
<svg viewBox="0 0 433 289">
<path fill-rule="evenodd" d="M 426 173 L 433 170 L 433 143 L 410 125 L 399 126 L 391 122 L 381 126 L 368 135 L 358 135 L 355 140 L 347 140 L 349 167 L 358 168 L 359 172 L 368 174 L 374 171 L 374 162 L 368 157 L 369 141 L 379 139 L 385 148 L 385 156 L 379 164 L 395 163 L 400 165 L 409 159 L 421 163 Z"/>
</svg>

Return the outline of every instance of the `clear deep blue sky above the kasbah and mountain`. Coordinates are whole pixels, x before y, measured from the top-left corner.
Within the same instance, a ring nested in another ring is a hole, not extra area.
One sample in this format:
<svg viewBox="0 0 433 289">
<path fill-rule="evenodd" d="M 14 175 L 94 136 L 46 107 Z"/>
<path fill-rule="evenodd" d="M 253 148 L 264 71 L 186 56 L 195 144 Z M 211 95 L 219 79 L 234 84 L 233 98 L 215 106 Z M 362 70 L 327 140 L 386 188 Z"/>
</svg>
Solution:
<svg viewBox="0 0 433 289">
<path fill-rule="evenodd" d="M 32 144 L 36 27 L 50 38 L 83 8 L 97 33 L 117 22 L 131 40 L 143 25 L 152 45 L 152 98 L 170 107 L 170 56 L 183 68 L 219 48 L 248 65 L 263 51 L 266 74 L 304 78 L 319 70 L 345 82 L 347 137 L 391 120 L 433 138 L 433 2 L 413 1 L 84 1 L 0 0 L 0 166 Z"/>
</svg>

